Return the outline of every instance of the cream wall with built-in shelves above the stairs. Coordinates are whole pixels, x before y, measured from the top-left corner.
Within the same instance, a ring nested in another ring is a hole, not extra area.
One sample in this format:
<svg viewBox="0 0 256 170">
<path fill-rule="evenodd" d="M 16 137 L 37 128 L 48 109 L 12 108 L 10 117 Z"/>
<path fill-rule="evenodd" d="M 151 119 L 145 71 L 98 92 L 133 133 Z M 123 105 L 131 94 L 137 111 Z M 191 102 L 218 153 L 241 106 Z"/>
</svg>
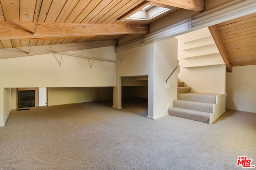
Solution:
<svg viewBox="0 0 256 170">
<path fill-rule="evenodd" d="M 208 28 L 186 33 L 178 39 L 178 78 L 191 92 L 226 93 L 226 65 Z"/>
</svg>

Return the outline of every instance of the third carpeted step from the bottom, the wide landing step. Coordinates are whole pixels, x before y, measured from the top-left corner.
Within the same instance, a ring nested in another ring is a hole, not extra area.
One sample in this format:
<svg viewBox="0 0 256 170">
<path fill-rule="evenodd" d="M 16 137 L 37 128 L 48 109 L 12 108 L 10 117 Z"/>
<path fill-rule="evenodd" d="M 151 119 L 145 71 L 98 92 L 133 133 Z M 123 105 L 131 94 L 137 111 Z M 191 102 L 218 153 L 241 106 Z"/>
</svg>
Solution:
<svg viewBox="0 0 256 170">
<path fill-rule="evenodd" d="M 190 102 L 202 102 L 216 104 L 216 96 L 218 94 L 206 94 L 206 93 L 181 93 L 177 94 L 178 100 L 186 100 Z"/>
</svg>

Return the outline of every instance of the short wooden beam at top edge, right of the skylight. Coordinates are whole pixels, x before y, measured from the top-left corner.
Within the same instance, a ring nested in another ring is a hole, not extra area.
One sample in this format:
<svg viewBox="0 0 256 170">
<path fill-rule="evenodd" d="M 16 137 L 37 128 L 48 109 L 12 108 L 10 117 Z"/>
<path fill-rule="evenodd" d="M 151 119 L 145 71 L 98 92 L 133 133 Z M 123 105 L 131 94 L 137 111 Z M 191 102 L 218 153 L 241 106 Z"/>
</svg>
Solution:
<svg viewBox="0 0 256 170">
<path fill-rule="evenodd" d="M 150 2 L 156 2 L 158 4 L 164 4 L 168 6 L 174 6 L 193 11 L 204 10 L 205 0 L 148 0 Z"/>
</svg>

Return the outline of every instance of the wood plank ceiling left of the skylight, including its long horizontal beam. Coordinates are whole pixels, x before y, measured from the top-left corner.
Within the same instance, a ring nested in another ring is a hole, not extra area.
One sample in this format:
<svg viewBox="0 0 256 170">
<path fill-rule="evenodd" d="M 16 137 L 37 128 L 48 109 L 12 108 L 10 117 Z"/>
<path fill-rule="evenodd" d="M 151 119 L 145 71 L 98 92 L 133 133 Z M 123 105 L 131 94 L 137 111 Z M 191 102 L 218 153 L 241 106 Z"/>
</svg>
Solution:
<svg viewBox="0 0 256 170">
<path fill-rule="evenodd" d="M 41 0 L 0 0 L 0 49 L 29 47 L 32 40 L 32 46 L 40 46 L 113 40 L 127 34 L 146 33 L 149 31 L 148 24 L 154 20 L 119 20 L 145 2 L 147 1 L 44 0 L 36 36 L 33 36 Z M 173 7 L 167 14 L 178 10 L 180 8 Z M 164 16 L 166 14 L 161 17 Z"/>
</svg>

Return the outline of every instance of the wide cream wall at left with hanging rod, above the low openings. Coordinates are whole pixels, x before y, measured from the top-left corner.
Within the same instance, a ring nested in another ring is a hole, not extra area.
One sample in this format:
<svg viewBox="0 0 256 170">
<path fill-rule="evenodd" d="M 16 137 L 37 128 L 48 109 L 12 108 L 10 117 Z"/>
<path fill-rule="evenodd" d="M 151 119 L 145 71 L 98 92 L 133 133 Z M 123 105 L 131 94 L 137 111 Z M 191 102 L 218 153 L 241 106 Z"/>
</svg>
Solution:
<svg viewBox="0 0 256 170">
<path fill-rule="evenodd" d="M 113 46 L 70 53 L 116 59 Z M 116 85 L 116 63 L 95 61 L 90 68 L 88 59 L 63 55 L 61 60 L 61 55 L 56 54 L 2 59 L 0 77 L 0 124 L 4 124 L 7 109 L 4 109 L 3 88 L 113 87 Z"/>
</svg>

